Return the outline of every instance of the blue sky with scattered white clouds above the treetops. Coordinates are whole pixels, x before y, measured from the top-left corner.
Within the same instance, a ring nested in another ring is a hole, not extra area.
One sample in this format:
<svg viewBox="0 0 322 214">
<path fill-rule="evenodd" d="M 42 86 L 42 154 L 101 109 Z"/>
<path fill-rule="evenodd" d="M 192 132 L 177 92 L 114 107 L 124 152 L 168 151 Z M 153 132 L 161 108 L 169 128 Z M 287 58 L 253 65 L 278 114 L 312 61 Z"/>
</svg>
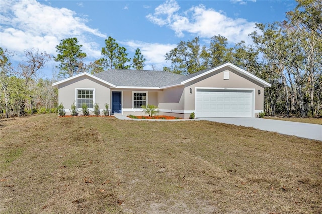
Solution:
<svg viewBox="0 0 322 214">
<path fill-rule="evenodd" d="M 255 23 L 283 21 L 296 5 L 293 0 L 1 0 L 0 46 L 15 53 L 15 62 L 33 47 L 55 55 L 60 40 L 77 37 L 90 62 L 101 57 L 104 40 L 111 36 L 131 58 L 140 48 L 144 69 L 161 70 L 169 65 L 164 55 L 180 41 L 199 36 L 208 44 L 220 34 L 230 45 L 241 40 L 250 44 Z M 49 63 L 45 70 L 50 71 L 44 72 L 52 72 L 54 65 Z"/>
</svg>

